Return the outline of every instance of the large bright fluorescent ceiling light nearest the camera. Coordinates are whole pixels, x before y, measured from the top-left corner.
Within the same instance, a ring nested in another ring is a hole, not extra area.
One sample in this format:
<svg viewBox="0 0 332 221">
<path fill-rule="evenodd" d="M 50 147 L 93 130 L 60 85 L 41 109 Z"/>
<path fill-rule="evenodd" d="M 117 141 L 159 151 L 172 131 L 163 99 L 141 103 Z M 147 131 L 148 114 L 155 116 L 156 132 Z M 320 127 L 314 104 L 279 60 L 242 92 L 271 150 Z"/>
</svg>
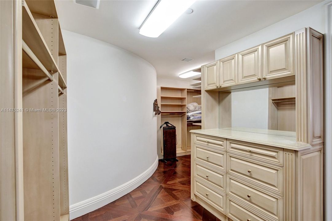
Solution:
<svg viewBox="0 0 332 221">
<path fill-rule="evenodd" d="M 146 37 L 159 37 L 196 0 L 159 0 L 139 29 Z"/>
</svg>

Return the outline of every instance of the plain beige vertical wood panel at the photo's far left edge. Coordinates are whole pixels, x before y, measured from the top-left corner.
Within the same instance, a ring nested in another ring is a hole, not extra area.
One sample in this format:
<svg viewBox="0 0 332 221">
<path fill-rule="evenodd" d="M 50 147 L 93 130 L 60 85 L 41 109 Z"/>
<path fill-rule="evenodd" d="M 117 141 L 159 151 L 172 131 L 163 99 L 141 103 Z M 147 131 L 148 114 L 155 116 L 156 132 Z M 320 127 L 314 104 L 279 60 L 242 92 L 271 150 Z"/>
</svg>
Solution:
<svg viewBox="0 0 332 221">
<path fill-rule="evenodd" d="M 22 108 L 22 1 L 0 1 L 0 108 Z M 0 220 L 23 220 L 22 111 L 0 113 Z"/>
</svg>

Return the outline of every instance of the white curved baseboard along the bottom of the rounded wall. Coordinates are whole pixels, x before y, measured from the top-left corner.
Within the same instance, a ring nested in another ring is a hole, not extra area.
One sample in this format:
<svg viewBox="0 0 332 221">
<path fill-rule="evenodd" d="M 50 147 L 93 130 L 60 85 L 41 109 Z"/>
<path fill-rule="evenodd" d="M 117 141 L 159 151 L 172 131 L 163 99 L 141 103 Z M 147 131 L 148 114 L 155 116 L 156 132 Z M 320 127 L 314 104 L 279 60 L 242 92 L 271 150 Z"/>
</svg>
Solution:
<svg viewBox="0 0 332 221">
<path fill-rule="evenodd" d="M 131 181 L 122 184 L 121 186 L 118 186 L 114 189 L 111 189 L 107 192 L 104 192 L 98 196 L 94 196 L 92 198 L 86 199 L 84 201 L 69 206 L 69 219 L 70 220 L 75 219 L 79 216 L 94 211 L 102 206 L 109 204 L 110 202 L 113 202 L 116 199 L 119 199 L 128 192 L 134 190 L 152 176 L 152 174 L 156 171 L 157 166 L 158 166 L 158 156 L 156 157 L 156 160 L 151 165 L 151 167 L 149 167 L 146 171 L 144 171 L 142 174 L 135 177 Z"/>
</svg>

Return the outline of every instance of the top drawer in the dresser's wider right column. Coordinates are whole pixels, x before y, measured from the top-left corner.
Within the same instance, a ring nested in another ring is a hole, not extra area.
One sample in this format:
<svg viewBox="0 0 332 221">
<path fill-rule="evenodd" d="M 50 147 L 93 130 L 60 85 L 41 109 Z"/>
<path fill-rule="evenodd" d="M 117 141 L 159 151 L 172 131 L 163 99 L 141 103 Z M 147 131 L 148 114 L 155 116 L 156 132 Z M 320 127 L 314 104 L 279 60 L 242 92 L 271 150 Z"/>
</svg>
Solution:
<svg viewBox="0 0 332 221">
<path fill-rule="evenodd" d="M 257 160 L 283 165 L 282 148 L 253 144 L 237 140 L 227 140 L 227 152 L 243 154 Z"/>
</svg>

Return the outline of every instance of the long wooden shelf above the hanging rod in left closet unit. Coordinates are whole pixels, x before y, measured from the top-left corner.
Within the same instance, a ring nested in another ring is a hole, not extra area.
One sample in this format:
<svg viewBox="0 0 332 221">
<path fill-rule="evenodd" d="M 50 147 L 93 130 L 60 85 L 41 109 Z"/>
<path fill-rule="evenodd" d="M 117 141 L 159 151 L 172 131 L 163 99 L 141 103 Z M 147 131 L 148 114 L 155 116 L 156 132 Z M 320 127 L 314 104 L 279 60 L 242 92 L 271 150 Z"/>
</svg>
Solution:
<svg viewBox="0 0 332 221">
<path fill-rule="evenodd" d="M 46 70 L 53 72 L 58 71 L 56 62 L 26 3 L 22 7 L 22 39 Z"/>
</svg>

